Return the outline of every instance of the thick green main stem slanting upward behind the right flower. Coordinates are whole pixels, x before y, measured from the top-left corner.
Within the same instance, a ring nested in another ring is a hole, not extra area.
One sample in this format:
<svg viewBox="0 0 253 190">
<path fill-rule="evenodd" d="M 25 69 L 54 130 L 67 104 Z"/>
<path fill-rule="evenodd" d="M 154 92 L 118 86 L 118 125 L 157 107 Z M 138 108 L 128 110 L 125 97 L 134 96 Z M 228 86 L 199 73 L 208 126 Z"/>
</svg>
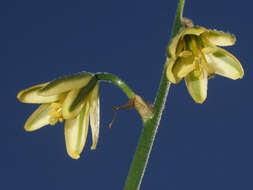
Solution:
<svg viewBox="0 0 253 190">
<path fill-rule="evenodd" d="M 172 30 L 172 36 L 175 36 L 182 26 L 182 12 L 184 3 L 185 0 L 179 1 L 174 27 Z M 160 86 L 154 103 L 154 117 L 144 123 L 142 134 L 128 173 L 124 190 L 138 190 L 140 188 L 170 87 L 170 83 L 166 78 L 166 69 L 167 64 L 164 65 Z"/>
</svg>

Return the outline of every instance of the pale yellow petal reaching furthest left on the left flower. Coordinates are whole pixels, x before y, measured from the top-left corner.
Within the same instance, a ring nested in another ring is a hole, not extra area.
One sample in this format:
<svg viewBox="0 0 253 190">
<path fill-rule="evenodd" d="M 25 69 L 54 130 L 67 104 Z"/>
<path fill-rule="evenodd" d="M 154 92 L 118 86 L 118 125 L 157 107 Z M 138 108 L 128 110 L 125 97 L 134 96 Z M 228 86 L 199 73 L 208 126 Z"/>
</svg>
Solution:
<svg viewBox="0 0 253 190">
<path fill-rule="evenodd" d="M 22 90 L 18 93 L 17 98 L 20 102 L 23 103 L 35 103 L 35 104 L 43 104 L 58 101 L 62 95 L 53 95 L 53 96 L 40 96 L 38 91 L 46 86 L 48 83 L 38 84 Z"/>
</svg>

